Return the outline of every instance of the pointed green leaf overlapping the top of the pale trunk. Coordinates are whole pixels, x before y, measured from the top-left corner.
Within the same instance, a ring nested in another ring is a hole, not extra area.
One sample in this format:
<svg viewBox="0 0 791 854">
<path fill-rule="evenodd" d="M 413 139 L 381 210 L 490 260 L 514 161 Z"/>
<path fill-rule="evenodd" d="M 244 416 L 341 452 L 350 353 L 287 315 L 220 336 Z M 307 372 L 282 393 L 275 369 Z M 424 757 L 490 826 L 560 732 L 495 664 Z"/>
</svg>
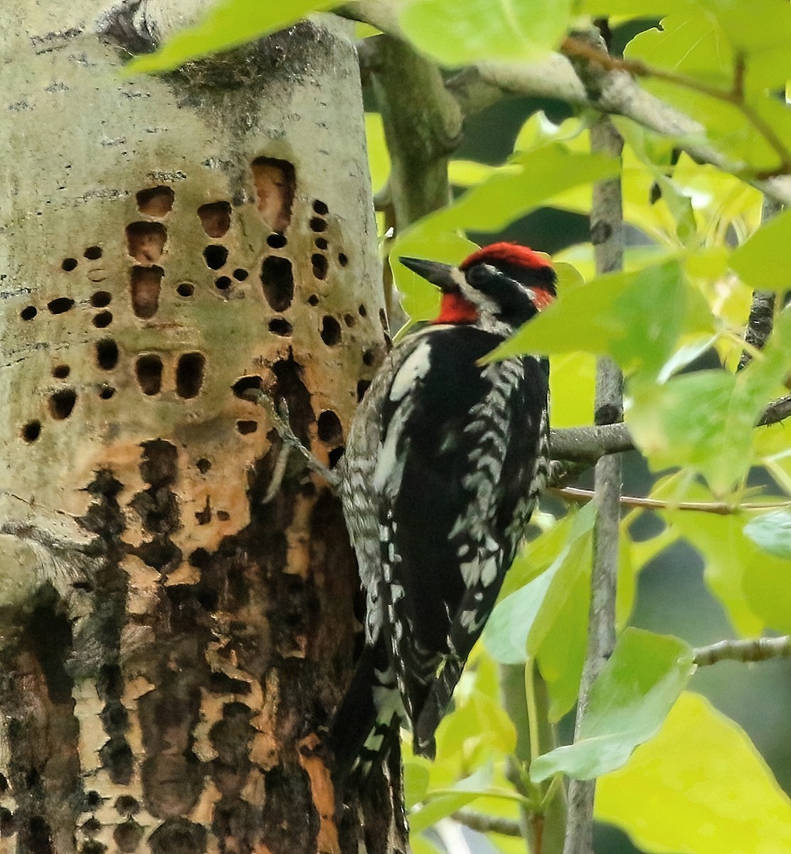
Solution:
<svg viewBox="0 0 791 854">
<path fill-rule="evenodd" d="M 178 32 L 155 53 L 137 56 L 126 70 L 131 74 L 172 71 L 184 62 L 251 42 L 311 12 L 337 5 L 338 0 L 221 0 L 200 23 Z"/>
</svg>

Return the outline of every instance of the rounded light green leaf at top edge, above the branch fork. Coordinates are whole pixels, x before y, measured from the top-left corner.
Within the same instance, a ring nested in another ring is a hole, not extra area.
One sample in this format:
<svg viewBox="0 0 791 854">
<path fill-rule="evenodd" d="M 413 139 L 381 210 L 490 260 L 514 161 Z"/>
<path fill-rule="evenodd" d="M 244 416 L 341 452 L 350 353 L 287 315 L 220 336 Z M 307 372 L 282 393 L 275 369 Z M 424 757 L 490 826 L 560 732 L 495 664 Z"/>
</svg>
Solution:
<svg viewBox="0 0 791 854">
<path fill-rule="evenodd" d="M 560 44 L 571 0 L 406 0 L 399 23 L 407 38 L 443 65 L 534 61 Z"/>
</svg>

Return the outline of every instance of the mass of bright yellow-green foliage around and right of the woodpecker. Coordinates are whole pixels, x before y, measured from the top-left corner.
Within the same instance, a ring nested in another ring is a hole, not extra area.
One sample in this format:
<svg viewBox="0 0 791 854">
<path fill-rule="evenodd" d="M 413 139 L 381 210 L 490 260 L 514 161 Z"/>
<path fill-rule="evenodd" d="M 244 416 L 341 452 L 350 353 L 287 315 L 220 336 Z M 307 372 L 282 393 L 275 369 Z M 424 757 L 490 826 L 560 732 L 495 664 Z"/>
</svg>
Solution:
<svg viewBox="0 0 791 854">
<path fill-rule="evenodd" d="M 175 54 L 137 67 L 172 66 L 190 51 L 211 49 L 207 33 L 214 47 L 236 44 L 319 5 L 331 4 L 274 3 L 257 29 L 218 37 L 229 21 L 252 11 L 241 0 L 225 3 L 202 34 L 189 36 L 191 47 L 178 48 L 174 40 Z M 695 854 L 787 851 L 791 664 L 701 669 L 691 676 L 693 693 L 673 701 L 692 670 L 689 647 L 791 631 L 788 428 L 753 430 L 763 407 L 785 394 L 791 322 L 780 311 L 782 300 L 765 353 L 734 373 L 753 287 L 782 296 L 789 285 L 791 219 L 781 213 L 759 228 L 762 196 L 753 184 L 791 172 L 783 97 L 791 78 L 791 6 L 784 0 L 402 0 L 394 8 L 402 35 L 445 69 L 540 61 L 573 26 L 590 26 L 586 16 L 611 15 L 612 53 L 623 52 L 631 63 L 621 70 L 703 126 L 668 138 L 615 119 L 625 138 L 623 274 L 597 278 L 587 243 L 591 184 L 618 169 L 590 154 L 593 116 L 562 101 L 525 97 L 468 117 L 450 164 L 454 204 L 402 229 L 394 242 L 388 237 L 385 251 L 391 258 L 459 260 L 469 248 L 466 231 L 477 243 L 515 239 L 553 253 L 561 262 L 561 301 L 516 337 L 511 352 L 553 356 L 555 427 L 590 424 L 595 355 L 618 361 L 627 376 L 627 423 L 643 452 L 627 455 L 624 492 L 664 504 L 658 512 L 625 512 L 621 524 L 623 634 L 596 695 L 599 705 L 591 704 L 596 743 L 553 754 L 554 764 L 533 763 L 532 781 L 522 779 L 531 809 L 543 809 L 556 792 L 548 788 L 553 770 L 602 774 L 597 816 L 620 828 L 601 830 L 602 850 L 631 851 L 633 843 L 643 851 Z M 256 10 L 255 20 L 262 17 Z M 372 179 L 381 189 L 387 151 L 370 94 L 369 108 Z M 701 150 L 713 151 L 717 165 L 707 165 L 696 154 Z M 384 218 L 381 225 L 384 232 Z M 430 316 L 436 295 L 392 266 L 407 313 Z M 676 509 L 690 501 L 724 502 L 733 512 Z M 437 844 L 423 831 L 462 806 L 518 816 L 520 798 L 505 776 L 518 733 L 500 705 L 497 662 L 529 663 L 531 705 L 538 660 L 549 687 L 546 711 L 560 719 L 561 741 L 571 740 L 569 715 L 585 653 L 592 515 L 587 508 L 567 515 L 561 500 L 547 500 L 537 519 L 540 536 L 503 591 L 515 598 L 503 599 L 493 615 L 457 693 L 457 710 L 440 729 L 437 762 L 407 757 L 418 854 Z M 626 630 L 627 624 L 649 634 Z M 497 850 L 524 850 L 521 840 L 500 834 L 489 834 L 489 841 Z"/>
</svg>

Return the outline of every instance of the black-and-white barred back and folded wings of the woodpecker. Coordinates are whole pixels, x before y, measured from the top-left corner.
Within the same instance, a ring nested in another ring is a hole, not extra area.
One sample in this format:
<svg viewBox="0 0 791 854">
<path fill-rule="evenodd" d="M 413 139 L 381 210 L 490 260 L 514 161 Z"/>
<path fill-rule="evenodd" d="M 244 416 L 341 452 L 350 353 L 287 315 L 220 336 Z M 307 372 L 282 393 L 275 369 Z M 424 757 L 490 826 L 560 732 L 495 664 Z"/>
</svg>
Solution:
<svg viewBox="0 0 791 854">
<path fill-rule="evenodd" d="M 416 337 L 382 406 L 374 489 L 383 629 L 416 749 L 431 753 L 532 511 L 546 381 L 532 359 L 479 366 L 501 340 L 489 332 Z"/>
</svg>

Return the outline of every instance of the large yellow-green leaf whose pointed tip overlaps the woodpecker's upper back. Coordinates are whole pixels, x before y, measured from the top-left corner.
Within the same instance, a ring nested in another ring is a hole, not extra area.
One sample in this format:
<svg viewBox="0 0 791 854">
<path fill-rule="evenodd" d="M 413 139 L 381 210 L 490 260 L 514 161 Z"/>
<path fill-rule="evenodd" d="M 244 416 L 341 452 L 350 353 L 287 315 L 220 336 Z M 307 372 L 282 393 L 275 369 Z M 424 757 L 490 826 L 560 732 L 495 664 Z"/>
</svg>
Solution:
<svg viewBox="0 0 791 854">
<path fill-rule="evenodd" d="M 711 329 L 701 295 L 684 281 L 678 260 L 666 260 L 636 272 L 600 276 L 563 295 L 492 358 L 583 349 L 612 356 L 627 373 L 654 377 L 683 331 Z"/>
</svg>

